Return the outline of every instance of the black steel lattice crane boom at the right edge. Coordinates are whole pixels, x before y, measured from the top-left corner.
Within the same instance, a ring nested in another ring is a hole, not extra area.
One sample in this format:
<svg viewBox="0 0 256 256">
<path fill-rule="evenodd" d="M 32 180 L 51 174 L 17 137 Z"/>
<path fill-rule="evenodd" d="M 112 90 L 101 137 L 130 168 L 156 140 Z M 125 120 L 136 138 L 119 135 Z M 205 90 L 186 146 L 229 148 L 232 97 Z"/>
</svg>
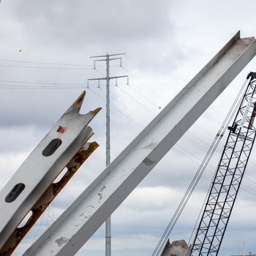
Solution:
<svg viewBox="0 0 256 256">
<path fill-rule="evenodd" d="M 192 246 L 192 255 L 218 255 L 244 170 L 255 142 L 256 73 L 248 85 L 222 152 L 208 200 Z"/>
</svg>

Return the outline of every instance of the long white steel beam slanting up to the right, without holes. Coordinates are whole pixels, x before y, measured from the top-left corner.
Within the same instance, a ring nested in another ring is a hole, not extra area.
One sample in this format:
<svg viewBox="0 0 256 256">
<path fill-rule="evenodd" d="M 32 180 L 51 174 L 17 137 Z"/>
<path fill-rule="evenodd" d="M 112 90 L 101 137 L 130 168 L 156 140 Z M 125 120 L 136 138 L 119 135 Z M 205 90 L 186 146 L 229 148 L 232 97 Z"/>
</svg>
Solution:
<svg viewBox="0 0 256 256">
<path fill-rule="evenodd" d="M 75 255 L 255 54 L 238 31 L 24 255 Z"/>
</svg>

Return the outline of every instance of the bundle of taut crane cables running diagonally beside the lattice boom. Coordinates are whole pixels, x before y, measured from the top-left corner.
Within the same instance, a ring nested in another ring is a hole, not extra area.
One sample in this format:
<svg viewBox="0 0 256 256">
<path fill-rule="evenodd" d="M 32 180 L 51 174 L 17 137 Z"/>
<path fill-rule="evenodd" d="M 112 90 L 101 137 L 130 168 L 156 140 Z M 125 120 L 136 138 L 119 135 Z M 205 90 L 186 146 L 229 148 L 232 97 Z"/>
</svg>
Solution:
<svg viewBox="0 0 256 256">
<path fill-rule="evenodd" d="M 168 237 L 170 236 L 171 231 L 173 230 L 173 227 L 176 225 L 176 222 L 178 221 L 178 217 L 180 217 L 182 211 L 184 210 L 185 206 L 187 205 L 187 202 L 189 200 L 189 197 L 192 195 L 192 192 L 195 190 L 195 187 L 197 186 L 198 181 L 200 180 L 201 176 L 203 175 L 204 170 L 206 170 L 206 167 L 208 165 L 208 162 L 211 160 L 211 157 L 214 154 L 214 151 L 216 150 L 217 146 L 219 145 L 220 140 L 222 139 L 223 135 L 225 134 L 225 131 L 227 129 L 227 125 L 230 124 L 230 121 L 233 120 L 233 116 L 235 116 L 239 106 L 241 105 L 241 100 L 243 97 L 241 95 L 243 94 L 243 91 L 246 89 L 246 79 L 244 81 L 244 85 L 241 87 L 240 91 L 238 92 L 238 95 L 233 102 L 233 105 L 231 106 L 229 112 L 227 113 L 227 116 L 225 118 L 225 121 L 223 121 L 222 126 L 219 128 L 219 131 L 217 132 L 216 137 L 214 138 L 213 143 L 211 144 L 210 148 L 208 149 L 208 152 L 206 153 L 206 157 L 203 159 L 203 162 L 201 163 L 200 167 L 197 170 L 197 173 L 195 174 L 195 177 L 192 179 L 191 184 L 189 185 L 187 192 L 185 192 L 184 197 L 181 200 L 181 203 L 178 205 L 178 208 L 176 209 L 175 213 L 173 214 L 172 219 L 170 220 L 169 224 L 167 225 L 167 228 L 165 232 L 163 233 L 162 237 L 160 238 L 156 249 L 154 249 L 154 252 L 151 256 L 158 256 L 162 249 L 164 248 L 166 241 Z M 202 209 L 201 209 L 202 211 Z M 200 213 L 201 213 L 200 211 Z M 199 218 L 199 217 L 198 217 Z M 198 222 L 198 219 L 197 219 Z M 196 227 L 197 223 L 195 224 Z M 193 232 L 195 231 L 195 227 L 193 229 Z"/>
</svg>

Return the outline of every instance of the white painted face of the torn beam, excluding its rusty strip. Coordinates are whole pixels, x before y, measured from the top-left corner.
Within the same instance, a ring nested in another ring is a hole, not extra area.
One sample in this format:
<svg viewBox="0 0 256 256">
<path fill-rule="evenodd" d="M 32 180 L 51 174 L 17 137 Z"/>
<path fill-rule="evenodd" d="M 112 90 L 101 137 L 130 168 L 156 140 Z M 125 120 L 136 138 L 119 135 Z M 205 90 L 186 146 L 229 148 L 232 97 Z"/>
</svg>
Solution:
<svg viewBox="0 0 256 256">
<path fill-rule="evenodd" d="M 42 139 L 7 185 L 1 190 L 0 248 L 42 193 L 45 192 L 45 189 L 48 188 L 61 170 L 67 166 L 70 159 L 74 157 L 84 143 L 93 135 L 91 127 L 88 127 L 87 124 L 89 124 L 100 109 L 90 111 L 86 115 L 81 115 L 79 110 L 84 96 L 85 91 L 61 116 L 59 121 L 50 129 L 48 135 Z M 59 126 L 65 127 L 63 133 L 56 132 Z M 62 143 L 52 155 L 44 157 L 42 151 L 51 140 L 56 138 L 60 138 Z M 25 184 L 25 189 L 14 202 L 7 203 L 5 197 L 15 187 L 15 184 L 19 183 Z"/>
</svg>

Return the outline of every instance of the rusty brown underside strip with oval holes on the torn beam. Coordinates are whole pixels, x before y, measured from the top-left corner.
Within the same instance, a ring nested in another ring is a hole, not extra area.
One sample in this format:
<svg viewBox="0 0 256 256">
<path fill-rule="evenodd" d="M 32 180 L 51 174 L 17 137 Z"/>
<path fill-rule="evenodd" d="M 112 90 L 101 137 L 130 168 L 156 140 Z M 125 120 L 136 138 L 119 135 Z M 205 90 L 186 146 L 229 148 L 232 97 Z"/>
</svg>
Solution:
<svg viewBox="0 0 256 256">
<path fill-rule="evenodd" d="M 37 203 L 31 208 L 32 211 L 31 217 L 29 217 L 23 227 L 16 227 L 10 238 L 6 241 L 4 246 L 0 249 L 1 256 L 10 256 L 12 252 L 16 249 L 20 241 L 26 236 L 31 227 L 33 227 L 34 223 L 37 222 L 37 219 L 42 215 L 45 209 L 49 206 L 49 204 L 53 201 L 56 195 L 59 194 L 61 189 L 67 184 L 67 182 L 72 178 L 72 176 L 76 173 L 76 171 L 83 165 L 83 162 L 88 159 L 88 157 L 94 152 L 94 150 L 99 146 L 97 142 L 88 143 L 88 148 L 81 148 L 75 157 L 71 159 L 69 164 L 67 165 L 67 172 L 61 178 L 61 180 L 57 183 L 52 183 L 45 190 L 45 193 L 37 200 Z"/>
</svg>

